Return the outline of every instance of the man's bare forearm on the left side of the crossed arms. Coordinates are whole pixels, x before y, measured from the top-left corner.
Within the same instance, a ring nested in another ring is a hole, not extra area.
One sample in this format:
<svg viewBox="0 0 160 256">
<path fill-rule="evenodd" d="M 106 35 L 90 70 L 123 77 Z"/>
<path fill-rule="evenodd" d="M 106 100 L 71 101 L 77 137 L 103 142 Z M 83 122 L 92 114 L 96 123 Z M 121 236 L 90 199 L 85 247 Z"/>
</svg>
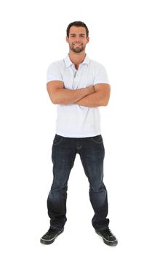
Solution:
<svg viewBox="0 0 160 256">
<path fill-rule="evenodd" d="M 80 99 L 92 94 L 93 90 L 88 88 L 70 90 L 70 89 L 57 89 L 55 94 L 55 104 L 68 105 L 74 104 Z"/>
</svg>

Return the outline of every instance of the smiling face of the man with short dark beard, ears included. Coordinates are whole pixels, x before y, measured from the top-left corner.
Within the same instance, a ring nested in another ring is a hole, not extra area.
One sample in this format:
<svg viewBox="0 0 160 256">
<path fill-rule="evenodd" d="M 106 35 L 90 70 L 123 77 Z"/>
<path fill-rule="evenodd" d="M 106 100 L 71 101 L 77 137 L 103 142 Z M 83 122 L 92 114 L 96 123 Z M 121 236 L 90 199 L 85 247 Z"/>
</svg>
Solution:
<svg viewBox="0 0 160 256">
<path fill-rule="evenodd" d="M 69 48 L 74 53 L 81 53 L 89 42 L 89 37 L 86 36 L 86 29 L 84 27 L 71 26 L 69 37 L 66 37 Z"/>
</svg>

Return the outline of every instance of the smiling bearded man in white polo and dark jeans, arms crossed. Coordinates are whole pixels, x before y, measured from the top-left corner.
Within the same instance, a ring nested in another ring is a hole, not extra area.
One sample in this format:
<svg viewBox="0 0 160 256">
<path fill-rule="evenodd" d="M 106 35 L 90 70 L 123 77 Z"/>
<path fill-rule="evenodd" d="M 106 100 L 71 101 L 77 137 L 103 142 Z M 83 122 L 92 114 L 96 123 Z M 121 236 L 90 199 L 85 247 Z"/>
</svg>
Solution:
<svg viewBox="0 0 160 256">
<path fill-rule="evenodd" d="M 42 244 L 52 244 L 63 232 L 66 218 L 68 178 L 80 155 L 89 181 L 89 199 L 95 215 L 95 232 L 108 245 L 117 239 L 109 229 L 108 197 L 103 184 L 105 148 L 100 133 L 99 106 L 108 105 L 110 85 L 102 64 L 88 58 L 85 48 L 89 31 L 85 23 L 75 21 L 67 28 L 69 53 L 47 70 L 47 91 L 57 104 L 56 134 L 52 145 L 53 182 L 47 198 L 50 227 L 41 237 Z"/>
</svg>

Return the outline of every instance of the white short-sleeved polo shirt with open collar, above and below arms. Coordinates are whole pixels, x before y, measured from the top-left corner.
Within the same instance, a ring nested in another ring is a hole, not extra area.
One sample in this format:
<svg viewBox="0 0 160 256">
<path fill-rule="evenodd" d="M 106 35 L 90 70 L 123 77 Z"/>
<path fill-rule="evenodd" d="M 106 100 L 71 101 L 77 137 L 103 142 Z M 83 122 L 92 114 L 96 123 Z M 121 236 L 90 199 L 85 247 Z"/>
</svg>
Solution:
<svg viewBox="0 0 160 256">
<path fill-rule="evenodd" d="M 66 89 L 76 90 L 97 83 L 108 83 L 108 75 L 102 64 L 89 59 L 76 70 L 67 55 L 65 59 L 55 61 L 47 69 L 47 83 L 52 80 L 63 81 Z M 100 135 L 100 111 L 98 107 L 81 105 L 57 105 L 55 133 L 69 138 L 85 138 Z"/>
</svg>

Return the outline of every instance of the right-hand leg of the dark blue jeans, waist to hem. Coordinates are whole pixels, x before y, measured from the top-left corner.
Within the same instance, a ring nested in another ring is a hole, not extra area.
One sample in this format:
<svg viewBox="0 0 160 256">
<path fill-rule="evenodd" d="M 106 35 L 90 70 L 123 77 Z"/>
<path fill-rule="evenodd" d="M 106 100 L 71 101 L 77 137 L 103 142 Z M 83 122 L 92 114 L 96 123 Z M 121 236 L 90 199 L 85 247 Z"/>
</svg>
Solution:
<svg viewBox="0 0 160 256">
<path fill-rule="evenodd" d="M 101 135 L 83 138 L 81 145 L 81 162 L 89 181 L 89 199 L 95 211 L 92 225 L 95 230 L 105 230 L 109 225 L 109 219 L 106 219 L 108 196 L 103 184 L 103 160 L 105 157 L 103 138 Z"/>
</svg>

